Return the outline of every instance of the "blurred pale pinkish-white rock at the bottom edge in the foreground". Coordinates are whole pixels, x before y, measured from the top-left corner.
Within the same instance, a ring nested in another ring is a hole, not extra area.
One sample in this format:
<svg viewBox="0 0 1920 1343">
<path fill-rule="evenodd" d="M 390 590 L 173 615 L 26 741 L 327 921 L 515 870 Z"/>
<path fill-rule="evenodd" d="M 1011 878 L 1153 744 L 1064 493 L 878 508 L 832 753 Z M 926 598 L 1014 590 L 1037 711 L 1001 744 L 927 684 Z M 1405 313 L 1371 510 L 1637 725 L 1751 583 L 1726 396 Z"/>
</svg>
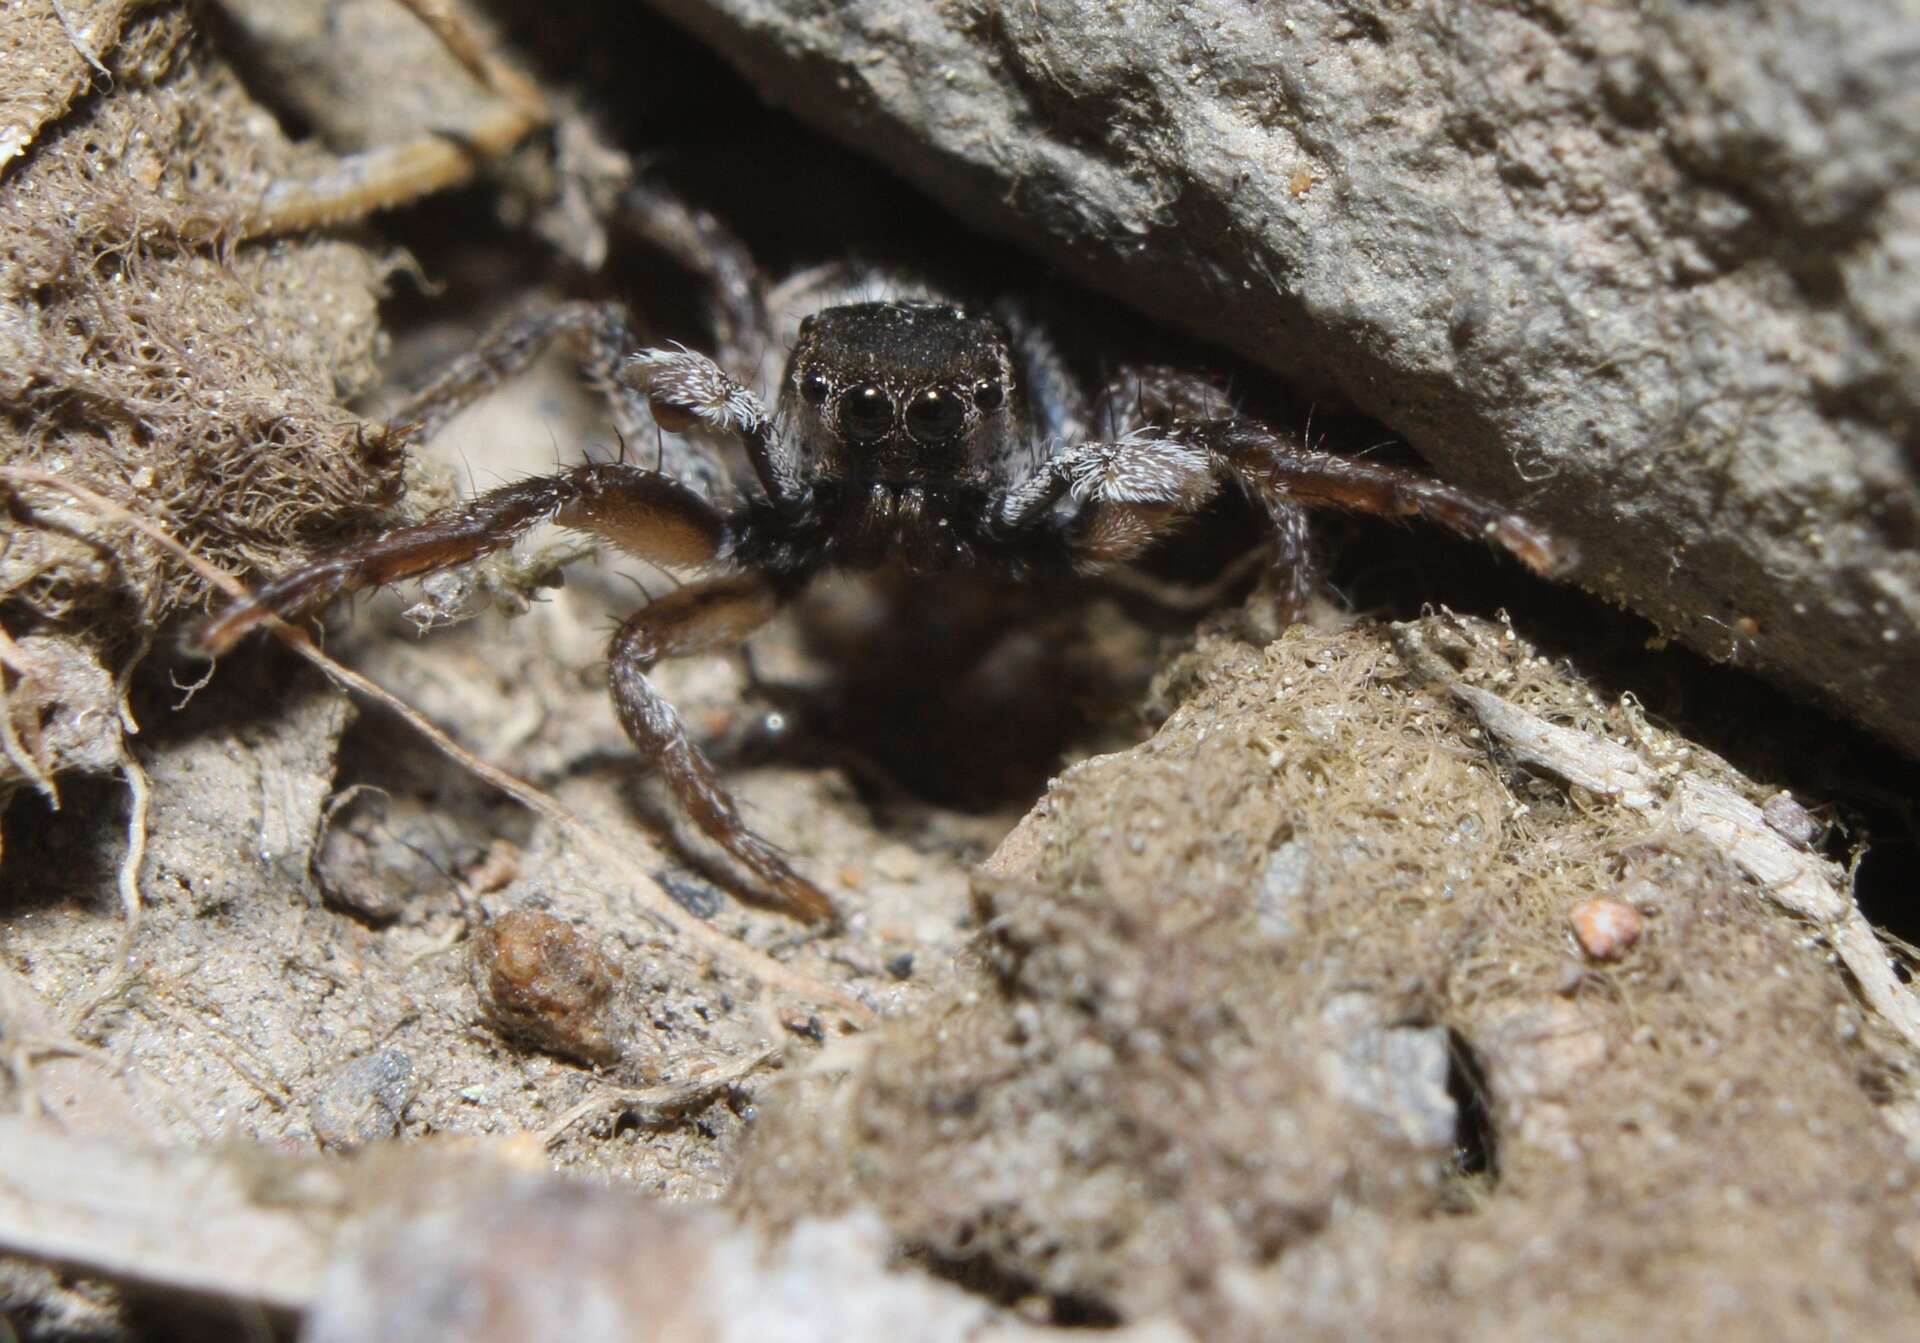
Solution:
<svg viewBox="0 0 1920 1343">
<path fill-rule="evenodd" d="M 762 1247 L 712 1209 L 520 1178 L 376 1226 L 334 1262 L 300 1337 L 964 1343 L 993 1322 L 977 1297 L 889 1268 L 870 1216 Z"/>
</svg>

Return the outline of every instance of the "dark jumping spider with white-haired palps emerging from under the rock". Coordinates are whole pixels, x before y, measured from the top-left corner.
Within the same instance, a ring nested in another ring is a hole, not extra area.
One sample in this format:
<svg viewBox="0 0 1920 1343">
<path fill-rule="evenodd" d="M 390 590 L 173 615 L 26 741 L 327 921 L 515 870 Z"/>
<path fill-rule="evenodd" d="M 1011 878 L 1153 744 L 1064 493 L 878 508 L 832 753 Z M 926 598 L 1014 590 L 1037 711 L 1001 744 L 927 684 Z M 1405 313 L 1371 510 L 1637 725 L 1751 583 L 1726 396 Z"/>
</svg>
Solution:
<svg viewBox="0 0 1920 1343">
<path fill-rule="evenodd" d="M 1421 515 L 1490 540 L 1538 573 L 1571 563 L 1569 548 L 1498 503 L 1319 452 L 1233 413 L 1219 388 L 1192 373 L 1123 369 L 1089 396 L 1016 307 L 964 307 L 900 284 L 874 292 L 870 281 L 862 292 L 833 271 L 768 290 L 710 215 L 643 188 L 628 209 L 641 232 L 697 261 L 712 282 L 718 361 L 639 348 L 624 309 L 568 304 L 497 330 L 409 417 L 430 432 L 568 334 L 584 338 L 588 373 L 624 436 L 672 436 L 657 469 L 589 463 L 518 480 L 323 553 L 209 623 L 209 651 L 269 617 L 300 617 L 344 592 L 503 549 L 541 523 L 703 571 L 618 628 L 612 701 L 699 828 L 816 920 L 833 915 L 826 893 L 747 826 L 647 669 L 739 644 L 822 571 L 899 563 L 1016 580 L 1044 569 L 1092 574 L 1139 555 L 1229 482 L 1273 523 L 1288 619 L 1309 590 L 1309 507 Z M 780 317 L 804 304 L 814 311 L 797 325 Z M 745 382 L 760 352 L 785 348 L 768 413 Z M 1094 425 L 1104 428 L 1098 438 Z M 732 452 L 743 452 L 745 478 L 733 475 Z"/>
</svg>

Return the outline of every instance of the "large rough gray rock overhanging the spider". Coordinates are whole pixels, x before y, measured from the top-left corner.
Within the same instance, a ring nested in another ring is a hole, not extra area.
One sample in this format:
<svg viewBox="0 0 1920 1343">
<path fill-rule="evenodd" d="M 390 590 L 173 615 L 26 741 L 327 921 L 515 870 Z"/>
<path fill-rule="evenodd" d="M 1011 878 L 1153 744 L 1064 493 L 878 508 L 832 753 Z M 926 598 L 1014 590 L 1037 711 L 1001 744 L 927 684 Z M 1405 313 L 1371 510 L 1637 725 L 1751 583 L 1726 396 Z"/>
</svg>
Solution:
<svg viewBox="0 0 1920 1343">
<path fill-rule="evenodd" d="M 1920 10 L 655 0 L 1920 751 Z"/>
</svg>

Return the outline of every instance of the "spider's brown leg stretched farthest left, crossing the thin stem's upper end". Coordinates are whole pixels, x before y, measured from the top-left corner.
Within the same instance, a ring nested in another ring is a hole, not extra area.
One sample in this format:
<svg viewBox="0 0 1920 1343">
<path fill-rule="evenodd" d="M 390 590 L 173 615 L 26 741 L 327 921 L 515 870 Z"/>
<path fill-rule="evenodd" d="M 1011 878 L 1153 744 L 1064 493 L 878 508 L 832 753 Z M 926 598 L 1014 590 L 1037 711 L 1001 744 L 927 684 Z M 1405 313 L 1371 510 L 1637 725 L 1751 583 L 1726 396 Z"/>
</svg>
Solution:
<svg viewBox="0 0 1920 1343">
<path fill-rule="evenodd" d="M 223 611 L 200 630 L 198 644 L 219 655 L 269 619 L 298 619 L 346 592 L 480 559 L 549 521 L 676 567 L 710 563 L 726 536 L 714 507 L 672 476 L 589 463 L 503 484 L 422 523 L 326 551 Z"/>
</svg>

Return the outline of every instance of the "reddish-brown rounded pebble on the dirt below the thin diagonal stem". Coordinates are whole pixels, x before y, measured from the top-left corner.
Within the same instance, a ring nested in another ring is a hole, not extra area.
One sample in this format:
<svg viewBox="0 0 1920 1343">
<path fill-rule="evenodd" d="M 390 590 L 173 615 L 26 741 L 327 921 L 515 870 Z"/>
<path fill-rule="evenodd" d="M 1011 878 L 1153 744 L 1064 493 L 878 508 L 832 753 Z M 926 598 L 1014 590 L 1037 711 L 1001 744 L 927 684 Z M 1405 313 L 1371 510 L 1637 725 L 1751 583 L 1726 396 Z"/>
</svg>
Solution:
<svg viewBox="0 0 1920 1343">
<path fill-rule="evenodd" d="M 480 1016 L 534 1049 L 595 1064 L 618 1059 L 618 986 L 614 963 L 553 915 L 515 909 L 474 940 Z"/>
</svg>

